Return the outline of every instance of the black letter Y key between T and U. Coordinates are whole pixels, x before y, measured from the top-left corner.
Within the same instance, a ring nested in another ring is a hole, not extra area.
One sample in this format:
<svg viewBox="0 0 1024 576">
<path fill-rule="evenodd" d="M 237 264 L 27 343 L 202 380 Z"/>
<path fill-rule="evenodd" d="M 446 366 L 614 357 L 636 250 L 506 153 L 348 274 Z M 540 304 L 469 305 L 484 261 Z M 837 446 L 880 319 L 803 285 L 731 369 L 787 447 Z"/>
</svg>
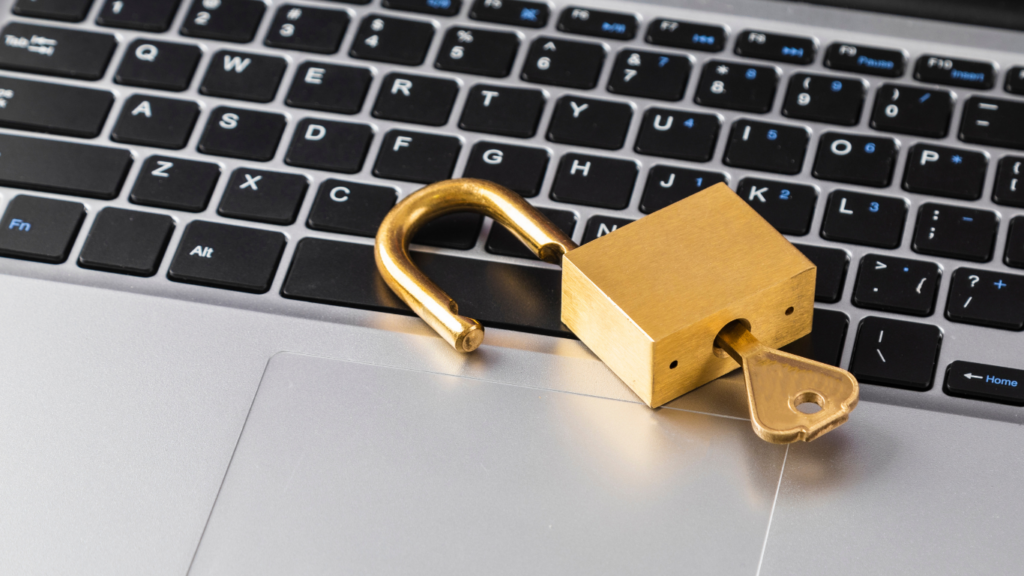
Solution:
<svg viewBox="0 0 1024 576">
<path fill-rule="evenodd" d="M 633 109 L 627 104 L 562 96 L 548 126 L 548 139 L 607 150 L 623 148 Z"/>
</svg>

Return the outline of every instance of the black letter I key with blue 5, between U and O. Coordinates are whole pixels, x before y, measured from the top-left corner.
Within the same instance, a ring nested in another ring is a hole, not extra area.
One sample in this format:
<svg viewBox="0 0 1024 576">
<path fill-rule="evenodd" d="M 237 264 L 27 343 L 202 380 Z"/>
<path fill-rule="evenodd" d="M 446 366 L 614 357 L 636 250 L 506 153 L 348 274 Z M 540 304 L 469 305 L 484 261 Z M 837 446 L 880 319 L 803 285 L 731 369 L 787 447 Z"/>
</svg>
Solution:
<svg viewBox="0 0 1024 576">
<path fill-rule="evenodd" d="M 804 165 L 807 128 L 737 120 L 729 132 L 722 162 L 766 172 L 796 174 Z"/>
</svg>

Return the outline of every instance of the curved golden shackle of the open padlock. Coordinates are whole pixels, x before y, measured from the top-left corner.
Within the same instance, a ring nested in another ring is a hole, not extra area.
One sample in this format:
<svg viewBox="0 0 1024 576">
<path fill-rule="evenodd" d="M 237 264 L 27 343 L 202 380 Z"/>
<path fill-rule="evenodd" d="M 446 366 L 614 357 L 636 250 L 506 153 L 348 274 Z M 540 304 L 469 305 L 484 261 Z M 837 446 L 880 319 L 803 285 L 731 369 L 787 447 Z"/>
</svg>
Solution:
<svg viewBox="0 0 1024 576">
<path fill-rule="evenodd" d="M 437 287 L 409 255 L 409 243 L 430 220 L 452 212 L 479 212 L 507 228 L 544 261 L 561 264 L 577 245 L 541 212 L 509 189 L 473 178 L 422 188 L 388 212 L 377 231 L 374 258 L 384 282 L 455 349 L 473 352 L 483 326 L 459 315 L 459 304 Z"/>
</svg>

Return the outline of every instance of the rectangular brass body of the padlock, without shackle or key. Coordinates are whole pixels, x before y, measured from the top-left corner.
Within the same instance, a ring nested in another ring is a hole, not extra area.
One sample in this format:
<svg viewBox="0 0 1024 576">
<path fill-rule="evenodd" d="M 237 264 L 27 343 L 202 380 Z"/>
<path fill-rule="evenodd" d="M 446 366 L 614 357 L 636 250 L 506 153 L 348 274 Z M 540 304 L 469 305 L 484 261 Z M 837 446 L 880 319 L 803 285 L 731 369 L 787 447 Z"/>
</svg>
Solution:
<svg viewBox="0 0 1024 576">
<path fill-rule="evenodd" d="M 738 366 L 740 320 L 781 347 L 811 331 L 816 270 L 724 183 L 569 251 L 562 322 L 650 407 Z"/>
</svg>

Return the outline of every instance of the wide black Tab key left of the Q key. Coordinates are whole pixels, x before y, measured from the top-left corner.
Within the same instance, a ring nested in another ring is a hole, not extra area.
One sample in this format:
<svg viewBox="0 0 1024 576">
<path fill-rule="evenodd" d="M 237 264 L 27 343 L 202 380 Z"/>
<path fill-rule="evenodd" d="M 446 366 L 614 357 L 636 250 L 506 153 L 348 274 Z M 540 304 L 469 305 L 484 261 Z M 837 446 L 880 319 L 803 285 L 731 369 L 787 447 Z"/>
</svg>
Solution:
<svg viewBox="0 0 1024 576">
<path fill-rule="evenodd" d="M 110 34 L 12 22 L 0 33 L 0 68 L 98 80 L 118 41 Z"/>
</svg>

